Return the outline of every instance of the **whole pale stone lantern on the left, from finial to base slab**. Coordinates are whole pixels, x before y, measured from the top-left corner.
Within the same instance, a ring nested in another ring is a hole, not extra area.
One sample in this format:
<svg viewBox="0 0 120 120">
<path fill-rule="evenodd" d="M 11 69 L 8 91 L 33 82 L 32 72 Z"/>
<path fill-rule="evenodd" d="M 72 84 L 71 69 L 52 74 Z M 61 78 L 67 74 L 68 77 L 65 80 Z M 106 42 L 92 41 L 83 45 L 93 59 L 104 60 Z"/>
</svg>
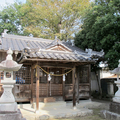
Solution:
<svg viewBox="0 0 120 120">
<path fill-rule="evenodd" d="M 13 80 L 13 71 L 18 71 L 22 64 L 13 61 L 13 51 L 9 48 L 5 61 L 0 63 L 0 71 L 4 71 L 4 78 L 1 80 L 4 92 L 0 97 L 0 120 L 25 120 L 22 118 L 20 110 L 17 108 L 12 88 L 15 80 Z"/>
</svg>

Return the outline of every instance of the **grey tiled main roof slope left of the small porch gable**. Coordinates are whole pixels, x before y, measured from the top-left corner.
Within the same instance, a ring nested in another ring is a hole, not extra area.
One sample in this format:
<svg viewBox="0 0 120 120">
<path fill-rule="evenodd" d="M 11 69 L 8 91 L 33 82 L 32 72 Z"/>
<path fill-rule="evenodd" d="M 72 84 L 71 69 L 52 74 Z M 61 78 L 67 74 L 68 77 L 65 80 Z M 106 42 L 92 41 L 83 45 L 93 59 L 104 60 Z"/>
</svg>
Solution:
<svg viewBox="0 0 120 120">
<path fill-rule="evenodd" d="M 2 45 L 0 45 L 0 51 L 5 50 L 7 51 L 11 48 L 13 51 L 18 50 L 22 51 L 24 48 L 29 46 L 31 49 L 33 48 L 41 48 L 48 46 L 51 41 L 42 38 L 33 38 L 33 37 L 26 37 L 26 36 L 19 36 L 19 35 L 10 35 L 5 34 L 2 39 Z"/>
</svg>

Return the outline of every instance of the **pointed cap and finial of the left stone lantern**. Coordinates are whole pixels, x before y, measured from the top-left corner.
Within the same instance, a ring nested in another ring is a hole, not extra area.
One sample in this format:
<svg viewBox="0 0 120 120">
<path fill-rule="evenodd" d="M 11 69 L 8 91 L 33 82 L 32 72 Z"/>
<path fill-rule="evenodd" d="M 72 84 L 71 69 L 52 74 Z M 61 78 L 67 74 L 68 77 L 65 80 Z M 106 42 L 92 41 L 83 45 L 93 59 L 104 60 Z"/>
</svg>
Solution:
<svg viewBox="0 0 120 120">
<path fill-rule="evenodd" d="M 7 51 L 7 57 L 6 60 L 2 61 L 0 63 L 0 70 L 4 71 L 18 71 L 22 64 L 18 64 L 17 62 L 13 61 L 12 54 L 13 51 L 11 48 Z"/>
</svg>

